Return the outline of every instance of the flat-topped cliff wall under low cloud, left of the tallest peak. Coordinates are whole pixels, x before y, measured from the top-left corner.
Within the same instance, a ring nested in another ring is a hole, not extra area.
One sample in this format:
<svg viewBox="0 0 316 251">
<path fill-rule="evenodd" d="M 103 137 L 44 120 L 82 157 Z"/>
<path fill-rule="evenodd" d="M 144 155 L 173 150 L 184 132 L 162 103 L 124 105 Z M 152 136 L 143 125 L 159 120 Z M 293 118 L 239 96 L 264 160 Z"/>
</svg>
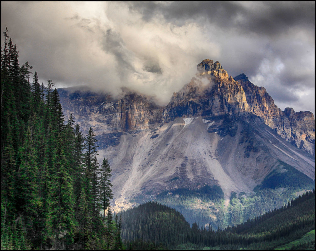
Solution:
<svg viewBox="0 0 316 251">
<path fill-rule="evenodd" d="M 65 119 L 70 117 L 87 132 L 93 127 L 95 135 L 141 131 L 161 120 L 161 107 L 150 97 L 126 91 L 118 99 L 109 94 L 58 89 Z"/>
</svg>

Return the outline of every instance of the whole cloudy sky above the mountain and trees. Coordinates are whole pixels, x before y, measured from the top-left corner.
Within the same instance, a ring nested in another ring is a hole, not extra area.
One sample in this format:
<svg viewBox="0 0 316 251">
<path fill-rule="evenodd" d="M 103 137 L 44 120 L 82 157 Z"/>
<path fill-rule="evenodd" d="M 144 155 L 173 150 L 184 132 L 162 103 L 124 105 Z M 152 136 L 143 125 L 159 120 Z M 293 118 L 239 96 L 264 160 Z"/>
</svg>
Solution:
<svg viewBox="0 0 316 251">
<path fill-rule="evenodd" d="M 282 110 L 315 114 L 315 2 L 1 2 L 6 27 L 44 84 L 125 86 L 166 105 L 208 58 Z"/>
</svg>

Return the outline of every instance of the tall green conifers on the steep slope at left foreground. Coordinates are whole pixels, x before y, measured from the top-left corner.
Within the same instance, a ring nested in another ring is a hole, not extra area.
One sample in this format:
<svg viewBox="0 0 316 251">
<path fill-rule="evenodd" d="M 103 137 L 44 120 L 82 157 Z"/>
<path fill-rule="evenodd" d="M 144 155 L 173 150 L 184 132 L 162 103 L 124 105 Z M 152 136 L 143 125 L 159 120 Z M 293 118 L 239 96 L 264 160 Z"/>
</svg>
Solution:
<svg viewBox="0 0 316 251">
<path fill-rule="evenodd" d="M 111 168 L 92 128 L 64 121 L 52 80 L 39 83 L 8 31 L 1 49 L 1 249 L 122 249 Z"/>
</svg>

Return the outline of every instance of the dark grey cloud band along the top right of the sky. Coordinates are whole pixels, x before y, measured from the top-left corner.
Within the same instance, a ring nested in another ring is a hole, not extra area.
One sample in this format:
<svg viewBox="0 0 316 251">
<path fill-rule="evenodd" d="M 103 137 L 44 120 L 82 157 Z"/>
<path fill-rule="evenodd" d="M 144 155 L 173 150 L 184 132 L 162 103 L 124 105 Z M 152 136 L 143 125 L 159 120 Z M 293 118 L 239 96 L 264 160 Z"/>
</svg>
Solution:
<svg viewBox="0 0 316 251">
<path fill-rule="evenodd" d="M 226 1 L 205 2 L 129 2 L 130 11 L 138 11 L 143 20 L 150 21 L 161 14 L 179 26 L 200 19 L 207 25 L 215 24 L 225 29 L 237 29 L 243 33 L 280 35 L 292 26 L 315 26 L 313 2 L 255 2 Z"/>
</svg>

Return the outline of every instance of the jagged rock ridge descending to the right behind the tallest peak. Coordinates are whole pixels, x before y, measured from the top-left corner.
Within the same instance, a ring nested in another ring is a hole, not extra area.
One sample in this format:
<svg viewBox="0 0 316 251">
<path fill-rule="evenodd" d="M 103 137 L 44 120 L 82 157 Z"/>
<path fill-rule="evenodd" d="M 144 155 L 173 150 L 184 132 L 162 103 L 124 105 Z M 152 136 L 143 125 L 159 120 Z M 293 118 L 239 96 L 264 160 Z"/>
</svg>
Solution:
<svg viewBox="0 0 316 251">
<path fill-rule="evenodd" d="M 295 112 L 293 108 L 281 111 L 265 88 L 252 84 L 245 74 L 234 77 L 246 94 L 250 112 L 264 119 L 283 139 L 315 155 L 315 118 L 310 111 Z"/>
</svg>

